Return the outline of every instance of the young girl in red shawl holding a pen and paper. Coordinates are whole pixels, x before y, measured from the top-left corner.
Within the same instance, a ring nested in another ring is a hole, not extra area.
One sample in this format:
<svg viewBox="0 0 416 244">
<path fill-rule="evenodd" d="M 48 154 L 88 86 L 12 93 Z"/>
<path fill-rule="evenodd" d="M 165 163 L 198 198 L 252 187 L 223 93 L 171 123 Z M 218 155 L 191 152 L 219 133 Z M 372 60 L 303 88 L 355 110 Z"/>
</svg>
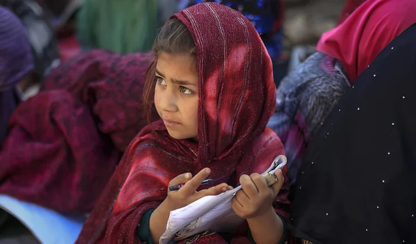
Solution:
<svg viewBox="0 0 416 244">
<path fill-rule="evenodd" d="M 184 243 L 279 243 L 288 181 L 286 168 L 272 187 L 259 175 L 284 151 L 266 128 L 275 84 L 254 26 L 231 8 L 200 3 L 171 17 L 154 50 L 144 98 L 162 120 L 125 151 L 78 243 L 157 243 L 171 211 L 240 184 L 232 207 L 245 225 Z M 207 177 L 210 184 L 199 187 Z"/>
</svg>

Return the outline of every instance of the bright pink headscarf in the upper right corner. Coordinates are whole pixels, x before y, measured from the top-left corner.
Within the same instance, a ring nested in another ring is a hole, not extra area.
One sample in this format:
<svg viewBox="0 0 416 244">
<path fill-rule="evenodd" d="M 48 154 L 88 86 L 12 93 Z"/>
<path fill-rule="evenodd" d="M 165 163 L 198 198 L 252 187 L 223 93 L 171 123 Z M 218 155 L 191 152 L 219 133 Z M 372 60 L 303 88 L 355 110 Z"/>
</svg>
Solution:
<svg viewBox="0 0 416 244">
<path fill-rule="evenodd" d="M 390 41 L 416 22 L 414 0 L 368 0 L 324 33 L 317 50 L 343 64 L 351 83 Z M 376 38 L 375 38 L 376 37 Z"/>
</svg>

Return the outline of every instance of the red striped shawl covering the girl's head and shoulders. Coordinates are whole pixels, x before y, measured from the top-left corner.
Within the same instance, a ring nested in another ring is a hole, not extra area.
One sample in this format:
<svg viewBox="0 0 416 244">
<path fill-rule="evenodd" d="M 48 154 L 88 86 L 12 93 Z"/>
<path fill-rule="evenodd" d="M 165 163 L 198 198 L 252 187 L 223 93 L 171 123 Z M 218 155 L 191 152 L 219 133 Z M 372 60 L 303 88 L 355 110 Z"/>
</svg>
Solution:
<svg viewBox="0 0 416 244">
<path fill-rule="evenodd" d="M 266 128 L 275 110 L 272 62 L 250 21 L 217 3 L 173 17 L 187 26 L 197 48 L 199 144 L 171 138 L 160 121 L 147 126 L 125 151 L 77 243 L 140 243 L 135 231 L 141 217 L 166 198 L 168 182 L 178 174 L 209 167 L 214 182 L 206 187 L 236 186 L 241 174 L 262 172 L 284 153 Z M 287 197 L 286 177 L 274 203 L 286 220 Z M 218 234 L 209 240 L 224 243 Z M 238 234 L 232 241 L 245 242 Z"/>
</svg>

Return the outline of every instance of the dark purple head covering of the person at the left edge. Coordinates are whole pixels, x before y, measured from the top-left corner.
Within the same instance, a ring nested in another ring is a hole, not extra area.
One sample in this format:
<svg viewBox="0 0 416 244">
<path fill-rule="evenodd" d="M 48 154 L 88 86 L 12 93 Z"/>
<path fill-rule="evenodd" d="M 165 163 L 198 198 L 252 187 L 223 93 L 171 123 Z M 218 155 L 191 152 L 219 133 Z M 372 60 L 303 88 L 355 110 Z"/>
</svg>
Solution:
<svg viewBox="0 0 416 244">
<path fill-rule="evenodd" d="M 31 45 L 24 26 L 10 10 L 0 7 L 0 149 L 10 115 L 21 100 L 16 85 L 32 70 Z"/>
</svg>

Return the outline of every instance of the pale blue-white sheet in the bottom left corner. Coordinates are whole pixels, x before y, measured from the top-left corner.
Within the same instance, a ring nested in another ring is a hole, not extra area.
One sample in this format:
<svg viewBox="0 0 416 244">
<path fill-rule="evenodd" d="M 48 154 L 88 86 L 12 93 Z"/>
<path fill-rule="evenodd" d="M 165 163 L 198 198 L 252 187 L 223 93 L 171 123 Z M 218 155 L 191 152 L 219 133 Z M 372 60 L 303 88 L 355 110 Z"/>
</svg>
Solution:
<svg viewBox="0 0 416 244">
<path fill-rule="evenodd" d="M 0 208 L 19 219 L 42 244 L 73 244 L 87 220 L 0 194 Z"/>
</svg>

